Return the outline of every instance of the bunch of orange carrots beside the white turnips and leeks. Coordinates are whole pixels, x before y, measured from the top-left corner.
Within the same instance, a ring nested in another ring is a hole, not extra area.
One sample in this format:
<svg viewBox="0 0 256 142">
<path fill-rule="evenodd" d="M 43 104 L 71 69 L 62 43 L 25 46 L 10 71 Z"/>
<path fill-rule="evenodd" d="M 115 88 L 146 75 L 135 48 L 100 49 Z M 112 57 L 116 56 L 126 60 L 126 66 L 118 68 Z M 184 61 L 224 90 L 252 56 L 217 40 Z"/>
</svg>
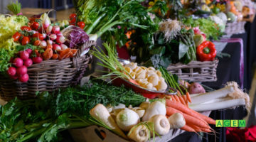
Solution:
<svg viewBox="0 0 256 142">
<path fill-rule="evenodd" d="M 180 96 L 180 98 L 183 97 Z M 208 124 L 215 124 L 215 120 L 211 119 L 208 116 L 204 116 L 197 111 L 189 109 L 181 102 L 173 100 L 166 99 L 166 115 L 171 116 L 175 113 L 183 114 L 183 117 L 186 120 L 186 125 L 181 128 L 182 130 L 191 132 L 212 132 L 212 129 Z M 175 100 L 177 99 L 175 98 Z"/>
</svg>

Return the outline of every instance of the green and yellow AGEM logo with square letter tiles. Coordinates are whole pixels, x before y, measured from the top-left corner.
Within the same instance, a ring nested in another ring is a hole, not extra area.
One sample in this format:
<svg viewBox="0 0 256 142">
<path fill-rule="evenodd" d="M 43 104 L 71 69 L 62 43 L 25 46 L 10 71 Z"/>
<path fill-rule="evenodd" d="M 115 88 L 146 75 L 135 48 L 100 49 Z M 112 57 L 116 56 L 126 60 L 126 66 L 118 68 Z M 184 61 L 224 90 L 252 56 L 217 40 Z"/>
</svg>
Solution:
<svg viewBox="0 0 256 142">
<path fill-rule="evenodd" d="M 245 127 L 245 120 L 216 120 L 216 127 Z"/>
</svg>

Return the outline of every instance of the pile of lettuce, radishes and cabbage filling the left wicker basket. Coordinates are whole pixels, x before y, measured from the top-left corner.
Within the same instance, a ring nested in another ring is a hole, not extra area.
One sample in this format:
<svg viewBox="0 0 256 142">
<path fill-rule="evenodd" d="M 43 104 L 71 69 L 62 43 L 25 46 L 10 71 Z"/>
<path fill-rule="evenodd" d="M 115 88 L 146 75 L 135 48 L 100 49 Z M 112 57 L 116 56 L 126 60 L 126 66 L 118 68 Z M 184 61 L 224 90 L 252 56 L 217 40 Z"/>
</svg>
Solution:
<svg viewBox="0 0 256 142">
<path fill-rule="evenodd" d="M 11 8 L 14 6 L 18 6 L 18 3 L 12 4 Z M 81 29 L 81 22 L 77 24 L 80 28 L 73 26 L 71 30 L 67 28 L 60 31 L 58 23 L 50 23 L 46 13 L 40 18 L 31 18 L 30 21 L 22 15 L 1 15 L 1 18 L 2 24 L 7 23 L 9 26 L 1 26 L 6 27 L 6 30 L 3 29 L 6 33 L 1 34 L 3 40 L 0 49 L 3 56 L 0 71 L 2 74 L 7 71 L 11 79 L 18 79 L 20 82 L 28 82 L 27 70 L 33 63 L 73 58 L 78 53 L 78 47 L 89 40 L 89 36 Z"/>
</svg>

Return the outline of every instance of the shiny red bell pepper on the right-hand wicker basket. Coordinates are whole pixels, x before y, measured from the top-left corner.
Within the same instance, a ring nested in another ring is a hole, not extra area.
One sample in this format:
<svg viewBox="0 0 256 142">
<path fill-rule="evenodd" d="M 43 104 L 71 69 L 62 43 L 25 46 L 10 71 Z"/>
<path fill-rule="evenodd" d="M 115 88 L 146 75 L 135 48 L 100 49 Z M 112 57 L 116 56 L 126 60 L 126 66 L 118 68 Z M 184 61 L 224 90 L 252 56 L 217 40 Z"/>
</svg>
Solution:
<svg viewBox="0 0 256 142">
<path fill-rule="evenodd" d="M 200 61 L 212 61 L 214 60 L 217 51 L 214 43 L 210 41 L 204 41 L 201 45 L 198 45 L 196 49 L 198 60 Z"/>
</svg>

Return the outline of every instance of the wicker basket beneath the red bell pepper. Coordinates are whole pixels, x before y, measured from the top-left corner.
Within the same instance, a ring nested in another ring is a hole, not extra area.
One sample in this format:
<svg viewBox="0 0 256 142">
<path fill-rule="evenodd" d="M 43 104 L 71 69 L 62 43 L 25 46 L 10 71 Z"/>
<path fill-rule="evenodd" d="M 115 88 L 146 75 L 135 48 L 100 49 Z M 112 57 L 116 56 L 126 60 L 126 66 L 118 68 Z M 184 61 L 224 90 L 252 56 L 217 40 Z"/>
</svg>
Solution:
<svg viewBox="0 0 256 142">
<path fill-rule="evenodd" d="M 213 61 L 191 61 L 187 65 L 177 63 L 171 64 L 167 70 L 178 75 L 181 80 L 191 82 L 213 82 L 217 80 L 216 69 L 218 60 Z"/>
</svg>

